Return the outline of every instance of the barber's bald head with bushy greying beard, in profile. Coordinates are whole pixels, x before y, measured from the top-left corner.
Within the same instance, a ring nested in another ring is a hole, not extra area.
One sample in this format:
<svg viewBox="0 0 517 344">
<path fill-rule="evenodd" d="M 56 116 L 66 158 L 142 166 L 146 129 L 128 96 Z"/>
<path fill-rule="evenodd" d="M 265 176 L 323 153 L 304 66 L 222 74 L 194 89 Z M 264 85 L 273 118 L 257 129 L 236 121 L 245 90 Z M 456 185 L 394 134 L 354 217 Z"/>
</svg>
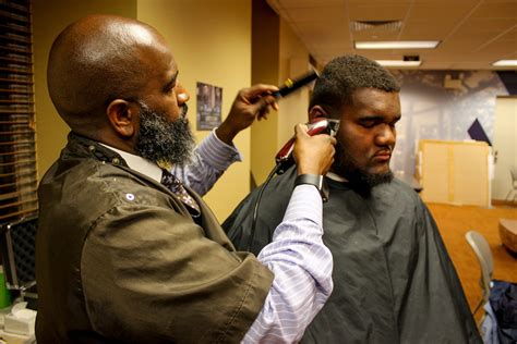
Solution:
<svg viewBox="0 0 517 344">
<path fill-rule="evenodd" d="M 153 27 L 115 15 L 69 25 L 50 50 L 48 89 L 72 131 L 153 161 L 182 163 L 193 147 L 190 96 Z"/>
</svg>

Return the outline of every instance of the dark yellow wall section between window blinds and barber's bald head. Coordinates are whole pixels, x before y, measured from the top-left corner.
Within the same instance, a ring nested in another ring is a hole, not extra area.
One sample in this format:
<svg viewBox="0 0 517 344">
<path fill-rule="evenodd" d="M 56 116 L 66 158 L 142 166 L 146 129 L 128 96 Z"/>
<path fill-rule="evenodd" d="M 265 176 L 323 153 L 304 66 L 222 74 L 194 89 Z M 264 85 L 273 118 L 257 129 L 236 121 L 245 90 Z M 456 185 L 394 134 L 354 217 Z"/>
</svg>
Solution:
<svg viewBox="0 0 517 344">
<path fill-rule="evenodd" d="M 136 17 L 136 0 L 33 0 L 36 147 L 41 177 L 59 157 L 69 127 L 56 112 L 47 91 L 47 61 L 52 41 L 70 23 L 93 13 Z"/>
</svg>

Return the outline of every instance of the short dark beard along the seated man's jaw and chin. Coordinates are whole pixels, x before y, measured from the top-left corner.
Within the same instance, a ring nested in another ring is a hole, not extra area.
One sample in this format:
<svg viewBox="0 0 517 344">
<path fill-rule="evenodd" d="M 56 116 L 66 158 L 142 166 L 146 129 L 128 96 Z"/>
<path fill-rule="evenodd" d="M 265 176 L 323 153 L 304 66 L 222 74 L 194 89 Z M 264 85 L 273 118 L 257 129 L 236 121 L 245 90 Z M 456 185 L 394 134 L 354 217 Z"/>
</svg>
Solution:
<svg viewBox="0 0 517 344">
<path fill-rule="evenodd" d="M 336 145 L 333 169 L 337 174 L 346 177 L 352 188 L 369 195 L 374 186 L 393 181 L 394 176 L 390 170 L 383 173 L 368 172 L 366 169 L 359 165 L 348 151 L 349 149 L 341 144 Z"/>
</svg>

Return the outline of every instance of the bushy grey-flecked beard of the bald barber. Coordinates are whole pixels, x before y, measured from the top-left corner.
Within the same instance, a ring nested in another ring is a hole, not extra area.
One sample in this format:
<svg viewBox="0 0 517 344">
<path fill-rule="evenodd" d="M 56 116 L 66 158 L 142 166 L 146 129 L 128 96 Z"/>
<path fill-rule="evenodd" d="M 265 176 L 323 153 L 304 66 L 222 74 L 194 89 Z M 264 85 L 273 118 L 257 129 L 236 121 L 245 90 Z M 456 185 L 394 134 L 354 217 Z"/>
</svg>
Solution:
<svg viewBox="0 0 517 344">
<path fill-rule="evenodd" d="M 195 138 L 185 120 L 187 106 L 176 122 L 167 121 L 165 113 L 140 105 L 140 131 L 135 150 L 142 158 L 159 165 L 185 165 L 192 159 Z"/>
</svg>

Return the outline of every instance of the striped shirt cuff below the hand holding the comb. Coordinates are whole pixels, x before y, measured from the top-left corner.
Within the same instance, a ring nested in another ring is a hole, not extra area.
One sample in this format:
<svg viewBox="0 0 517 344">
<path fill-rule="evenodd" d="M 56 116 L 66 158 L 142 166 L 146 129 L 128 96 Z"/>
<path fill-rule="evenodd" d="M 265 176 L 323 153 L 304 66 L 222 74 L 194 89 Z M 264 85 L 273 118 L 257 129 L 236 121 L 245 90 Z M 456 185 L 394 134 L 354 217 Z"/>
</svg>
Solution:
<svg viewBox="0 0 517 344">
<path fill-rule="evenodd" d="M 215 130 L 197 146 L 196 150 L 212 167 L 220 171 L 225 171 L 233 162 L 242 161 L 242 156 L 236 146 L 221 142 Z"/>
</svg>

